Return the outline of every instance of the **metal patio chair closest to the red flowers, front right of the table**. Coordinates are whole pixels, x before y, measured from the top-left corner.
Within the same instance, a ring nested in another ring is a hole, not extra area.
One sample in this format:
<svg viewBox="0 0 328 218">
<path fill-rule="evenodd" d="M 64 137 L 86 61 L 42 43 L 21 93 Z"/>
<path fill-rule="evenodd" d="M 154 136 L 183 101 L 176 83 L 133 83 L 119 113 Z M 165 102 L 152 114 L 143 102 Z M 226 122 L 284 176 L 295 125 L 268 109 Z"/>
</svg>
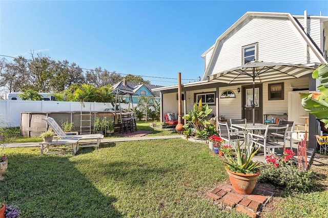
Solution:
<svg viewBox="0 0 328 218">
<path fill-rule="evenodd" d="M 249 143 L 251 144 L 251 149 L 252 146 L 261 146 L 264 149 L 264 157 L 267 156 L 267 149 L 270 151 L 272 149 L 272 153 L 275 153 L 275 148 L 284 148 L 285 143 L 286 143 L 286 133 L 289 125 L 287 124 L 286 126 L 270 126 L 267 125 L 267 128 L 265 128 L 264 135 L 258 135 L 258 134 L 253 134 L 253 133 L 248 133 L 248 140 Z M 281 133 L 283 135 L 283 142 L 282 144 L 279 144 L 277 142 L 274 142 L 271 140 L 271 133 Z"/>
</svg>

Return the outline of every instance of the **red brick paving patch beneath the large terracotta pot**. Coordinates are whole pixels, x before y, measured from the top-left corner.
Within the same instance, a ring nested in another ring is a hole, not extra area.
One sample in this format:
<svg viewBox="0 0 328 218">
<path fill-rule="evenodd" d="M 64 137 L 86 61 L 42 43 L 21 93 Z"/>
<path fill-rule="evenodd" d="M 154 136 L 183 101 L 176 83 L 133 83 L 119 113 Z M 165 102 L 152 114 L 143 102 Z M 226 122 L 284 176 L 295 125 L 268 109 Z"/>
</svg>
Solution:
<svg viewBox="0 0 328 218">
<path fill-rule="evenodd" d="M 257 184 L 252 194 L 238 194 L 233 190 L 230 181 L 207 193 L 207 196 L 213 199 L 213 203 L 220 208 L 224 210 L 236 208 L 236 211 L 254 218 L 259 215 L 262 207 L 273 198 L 273 195 L 274 189 L 263 184 Z"/>
</svg>

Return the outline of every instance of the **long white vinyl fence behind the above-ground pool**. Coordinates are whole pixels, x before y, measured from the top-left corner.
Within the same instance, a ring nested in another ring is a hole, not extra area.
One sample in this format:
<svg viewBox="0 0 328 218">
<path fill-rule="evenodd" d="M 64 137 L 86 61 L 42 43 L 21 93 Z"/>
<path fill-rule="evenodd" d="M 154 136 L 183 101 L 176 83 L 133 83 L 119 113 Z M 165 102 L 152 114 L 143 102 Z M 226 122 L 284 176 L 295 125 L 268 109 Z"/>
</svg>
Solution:
<svg viewBox="0 0 328 218">
<path fill-rule="evenodd" d="M 127 109 L 129 104 L 120 104 L 122 109 Z M 133 104 L 135 107 L 137 104 Z M 131 105 L 130 105 L 131 106 Z M 21 112 L 99 112 L 114 110 L 111 103 L 71 101 L 25 101 L 25 100 L 0 100 L 0 127 L 20 126 Z"/>
</svg>

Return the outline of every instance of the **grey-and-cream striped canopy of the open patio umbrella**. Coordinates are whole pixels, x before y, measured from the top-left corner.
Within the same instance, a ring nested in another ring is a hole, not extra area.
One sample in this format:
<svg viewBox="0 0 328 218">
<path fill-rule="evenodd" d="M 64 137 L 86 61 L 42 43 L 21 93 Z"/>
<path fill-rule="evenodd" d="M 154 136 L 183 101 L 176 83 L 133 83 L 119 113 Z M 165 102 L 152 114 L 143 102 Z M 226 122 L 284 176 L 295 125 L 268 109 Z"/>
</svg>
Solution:
<svg viewBox="0 0 328 218">
<path fill-rule="evenodd" d="M 310 74 L 315 68 L 303 64 L 251 61 L 238 68 L 208 76 L 208 81 L 223 83 L 261 83 L 293 79 Z"/>
</svg>

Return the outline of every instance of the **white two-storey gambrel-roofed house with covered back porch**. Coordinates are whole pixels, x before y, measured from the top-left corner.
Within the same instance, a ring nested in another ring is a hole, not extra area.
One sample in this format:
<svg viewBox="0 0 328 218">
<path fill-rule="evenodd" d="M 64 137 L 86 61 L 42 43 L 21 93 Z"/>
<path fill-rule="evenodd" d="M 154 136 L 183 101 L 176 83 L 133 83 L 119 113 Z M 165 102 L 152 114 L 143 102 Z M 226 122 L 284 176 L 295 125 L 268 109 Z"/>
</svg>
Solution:
<svg viewBox="0 0 328 218">
<path fill-rule="evenodd" d="M 247 118 L 250 122 L 251 105 L 247 96 L 252 89 L 252 78 L 247 83 L 229 85 L 208 81 L 208 77 L 251 60 L 304 64 L 316 68 L 321 63 L 327 63 L 327 39 L 328 16 L 307 15 L 306 11 L 304 15 L 297 16 L 290 13 L 245 13 L 201 55 L 205 66 L 202 81 L 182 84 L 182 114 L 192 110 L 193 104 L 202 98 L 217 117 Z M 153 89 L 161 93 L 161 121 L 165 113 L 178 113 L 177 86 Z M 302 110 L 298 94 L 300 90 L 314 91 L 316 86 L 311 74 L 257 83 L 256 122 L 263 122 L 262 115 L 265 114 L 287 114 L 288 119 L 296 124 L 304 122 L 299 117 L 308 114 Z M 314 134 L 310 132 L 311 135 Z"/>
</svg>

